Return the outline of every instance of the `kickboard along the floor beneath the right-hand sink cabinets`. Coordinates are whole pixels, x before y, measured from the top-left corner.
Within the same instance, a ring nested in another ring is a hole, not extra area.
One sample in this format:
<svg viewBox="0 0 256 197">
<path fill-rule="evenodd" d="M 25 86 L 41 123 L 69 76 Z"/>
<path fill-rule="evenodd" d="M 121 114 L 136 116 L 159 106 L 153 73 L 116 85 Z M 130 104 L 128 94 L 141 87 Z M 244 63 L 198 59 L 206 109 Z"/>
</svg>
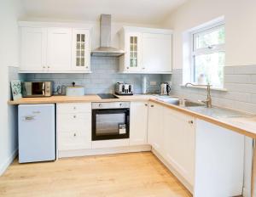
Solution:
<svg viewBox="0 0 256 197">
<path fill-rule="evenodd" d="M 194 187 L 186 181 L 183 176 L 181 176 L 154 148 L 152 148 L 152 153 L 168 168 L 172 174 L 177 177 L 177 179 L 183 184 L 183 186 L 189 190 L 191 194 L 194 193 Z"/>
</svg>

